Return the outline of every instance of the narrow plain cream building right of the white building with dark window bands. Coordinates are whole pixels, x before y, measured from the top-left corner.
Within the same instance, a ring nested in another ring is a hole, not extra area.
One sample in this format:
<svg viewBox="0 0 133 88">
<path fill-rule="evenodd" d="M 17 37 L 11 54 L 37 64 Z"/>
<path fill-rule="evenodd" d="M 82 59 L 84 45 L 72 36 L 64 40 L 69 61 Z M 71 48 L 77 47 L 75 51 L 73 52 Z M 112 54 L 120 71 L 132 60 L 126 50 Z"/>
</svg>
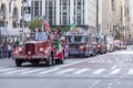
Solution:
<svg viewBox="0 0 133 88">
<path fill-rule="evenodd" d="M 99 0 L 100 34 L 110 34 L 112 31 L 112 0 Z"/>
</svg>

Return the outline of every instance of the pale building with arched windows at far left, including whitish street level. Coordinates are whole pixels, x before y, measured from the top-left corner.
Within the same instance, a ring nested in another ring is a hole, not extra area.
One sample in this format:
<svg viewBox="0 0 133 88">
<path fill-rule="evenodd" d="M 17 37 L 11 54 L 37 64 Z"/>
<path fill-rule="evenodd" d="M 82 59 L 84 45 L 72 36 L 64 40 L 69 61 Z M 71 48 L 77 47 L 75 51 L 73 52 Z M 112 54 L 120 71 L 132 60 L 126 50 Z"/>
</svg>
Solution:
<svg viewBox="0 0 133 88">
<path fill-rule="evenodd" d="M 24 18 L 22 18 L 24 1 L 27 0 L 0 0 L 0 43 L 14 41 L 16 37 L 22 38 L 22 32 L 27 31 L 22 28 L 24 26 Z"/>
</svg>

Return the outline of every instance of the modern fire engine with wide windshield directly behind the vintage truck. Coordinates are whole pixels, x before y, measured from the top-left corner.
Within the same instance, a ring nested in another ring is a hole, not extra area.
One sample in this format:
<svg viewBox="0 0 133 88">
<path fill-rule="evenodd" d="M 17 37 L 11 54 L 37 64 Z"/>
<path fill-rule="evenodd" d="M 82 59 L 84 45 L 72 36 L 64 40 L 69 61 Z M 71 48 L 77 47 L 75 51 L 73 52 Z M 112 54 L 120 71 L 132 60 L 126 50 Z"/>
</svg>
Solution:
<svg viewBox="0 0 133 88">
<path fill-rule="evenodd" d="M 69 42 L 69 56 L 96 55 L 96 41 L 86 29 L 76 28 L 65 34 Z"/>
</svg>

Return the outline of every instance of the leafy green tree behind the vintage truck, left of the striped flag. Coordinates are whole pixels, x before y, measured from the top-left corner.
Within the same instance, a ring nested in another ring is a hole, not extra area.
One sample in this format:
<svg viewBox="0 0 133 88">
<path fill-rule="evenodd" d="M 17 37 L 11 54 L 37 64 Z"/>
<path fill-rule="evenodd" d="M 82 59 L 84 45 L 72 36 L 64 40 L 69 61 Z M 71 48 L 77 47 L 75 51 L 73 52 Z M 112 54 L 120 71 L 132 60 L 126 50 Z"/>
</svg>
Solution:
<svg viewBox="0 0 133 88">
<path fill-rule="evenodd" d="M 29 29 L 33 30 L 34 28 L 42 29 L 42 20 L 32 20 L 28 24 Z"/>
</svg>

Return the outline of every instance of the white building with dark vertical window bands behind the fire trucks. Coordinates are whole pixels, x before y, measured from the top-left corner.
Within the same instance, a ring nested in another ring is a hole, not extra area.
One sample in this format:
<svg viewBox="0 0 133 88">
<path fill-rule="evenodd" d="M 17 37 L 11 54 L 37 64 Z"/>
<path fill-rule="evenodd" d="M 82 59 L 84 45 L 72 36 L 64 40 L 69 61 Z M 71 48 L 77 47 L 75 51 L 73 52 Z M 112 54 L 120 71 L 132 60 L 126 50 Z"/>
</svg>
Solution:
<svg viewBox="0 0 133 88">
<path fill-rule="evenodd" d="M 96 28 L 96 0 L 31 0 L 32 19 L 48 18 L 51 25 L 68 26 L 75 23 Z"/>
</svg>

